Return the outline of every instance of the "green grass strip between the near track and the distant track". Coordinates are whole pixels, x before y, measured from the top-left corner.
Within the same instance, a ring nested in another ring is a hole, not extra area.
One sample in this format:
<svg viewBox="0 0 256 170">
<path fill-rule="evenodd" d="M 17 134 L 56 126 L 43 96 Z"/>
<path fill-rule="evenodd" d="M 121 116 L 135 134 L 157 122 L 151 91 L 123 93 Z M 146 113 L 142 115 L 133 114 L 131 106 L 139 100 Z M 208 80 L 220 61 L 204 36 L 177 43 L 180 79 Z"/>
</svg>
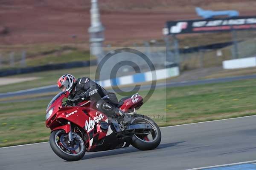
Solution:
<svg viewBox="0 0 256 170">
<path fill-rule="evenodd" d="M 164 116 L 155 120 L 160 126 L 255 115 L 255 84 L 247 80 L 157 89 L 138 113 Z M 0 147 L 47 141 L 44 117 L 50 99 L 0 103 Z"/>
</svg>

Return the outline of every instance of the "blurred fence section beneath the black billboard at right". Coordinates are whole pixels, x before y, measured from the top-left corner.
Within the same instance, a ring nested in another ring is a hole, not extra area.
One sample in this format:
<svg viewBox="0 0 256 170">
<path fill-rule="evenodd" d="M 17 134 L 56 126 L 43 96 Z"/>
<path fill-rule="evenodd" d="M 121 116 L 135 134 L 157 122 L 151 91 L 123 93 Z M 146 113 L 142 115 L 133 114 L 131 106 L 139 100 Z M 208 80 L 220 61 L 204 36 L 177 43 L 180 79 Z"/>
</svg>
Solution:
<svg viewBox="0 0 256 170">
<path fill-rule="evenodd" d="M 256 56 L 256 31 L 210 33 L 166 40 L 167 61 L 181 70 L 221 66 L 222 61 Z"/>
</svg>

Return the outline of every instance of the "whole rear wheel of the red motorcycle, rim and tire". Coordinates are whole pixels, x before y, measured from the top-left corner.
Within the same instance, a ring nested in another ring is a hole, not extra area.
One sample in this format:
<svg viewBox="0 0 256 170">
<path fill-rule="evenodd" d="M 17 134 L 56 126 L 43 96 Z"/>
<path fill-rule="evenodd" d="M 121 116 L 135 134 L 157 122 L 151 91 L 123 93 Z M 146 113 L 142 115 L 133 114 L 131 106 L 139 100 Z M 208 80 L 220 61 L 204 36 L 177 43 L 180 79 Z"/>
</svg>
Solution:
<svg viewBox="0 0 256 170">
<path fill-rule="evenodd" d="M 161 131 L 157 124 L 145 115 L 136 115 L 131 120 L 131 124 L 138 123 L 147 123 L 150 124 L 152 129 L 148 130 L 139 130 L 137 133 L 140 135 L 134 134 L 132 137 L 132 146 L 136 147 L 139 150 L 152 150 L 156 148 L 161 142 Z M 143 135 L 145 133 L 145 135 Z"/>
</svg>

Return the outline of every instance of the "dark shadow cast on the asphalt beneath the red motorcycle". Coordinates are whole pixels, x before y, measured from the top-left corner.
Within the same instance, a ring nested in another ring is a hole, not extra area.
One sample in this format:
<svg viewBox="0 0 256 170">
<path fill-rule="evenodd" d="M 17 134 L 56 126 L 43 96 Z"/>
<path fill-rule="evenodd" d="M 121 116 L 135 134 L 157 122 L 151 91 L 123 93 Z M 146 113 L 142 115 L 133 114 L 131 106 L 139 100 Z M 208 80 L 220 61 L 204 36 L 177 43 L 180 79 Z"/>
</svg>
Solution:
<svg viewBox="0 0 256 170">
<path fill-rule="evenodd" d="M 174 142 L 174 143 L 167 143 L 167 144 L 160 144 L 156 149 L 163 149 L 166 147 L 173 147 L 176 146 L 177 144 L 183 143 L 185 141 L 180 141 L 180 142 Z M 118 155 L 118 154 L 123 154 L 123 153 L 133 153 L 133 152 L 143 152 L 142 150 L 138 150 L 135 147 L 126 147 L 126 148 L 120 148 L 116 150 L 110 150 L 110 151 L 104 151 L 100 153 L 94 153 L 90 155 L 84 155 L 84 157 L 81 160 L 84 159 L 90 159 L 90 158 L 97 158 L 97 157 L 102 157 L 102 156 L 112 156 L 112 155 Z"/>
</svg>

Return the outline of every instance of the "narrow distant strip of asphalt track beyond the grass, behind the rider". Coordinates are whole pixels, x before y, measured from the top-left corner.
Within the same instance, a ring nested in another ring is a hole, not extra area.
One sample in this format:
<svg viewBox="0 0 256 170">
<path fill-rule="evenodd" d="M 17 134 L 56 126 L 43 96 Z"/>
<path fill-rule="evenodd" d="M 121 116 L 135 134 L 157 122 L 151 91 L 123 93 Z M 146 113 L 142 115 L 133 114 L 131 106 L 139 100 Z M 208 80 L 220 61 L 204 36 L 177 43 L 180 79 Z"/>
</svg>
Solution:
<svg viewBox="0 0 256 170">
<path fill-rule="evenodd" d="M 178 87 L 178 86 L 192 86 L 192 85 L 200 85 L 200 84 L 212 84 L 212 83 L 221 83 L 221 82 L 230 82 L 230 81 L 239 81 L 239 80 L 246 80 L 256 78 L 256 75 L 243 75 L 243 76 L 236 76 L 236 77 L 227 77 L 227 78 L 212 78 L 212 79 L 205 79 L 205 80 L 197 80 L 197 81 L 183 81 L 183 82 L 172 82 L 168 81 L 166 83 L 159 83 L 156 85 L 156 88 L 164 88 L 164 87 Z M 150 89 L 151 85 L 143 85 L 140 89 Z M 125 87 L 120 88 L 123 91 L 130 91 L 134 87 Z M 111 90 L 109 90 L 111 91 Z M 118 90 L 117 90 L 118 91 Z M 19 95 L 32 95 L 44 92 L 58 92 L 58 88 L 56 85 L 44 86 L 34 89 L 27 89 L 27 90 L 20 90 L 17 92 L 7 92 L 7 93 L 0 93 L 0 98 L 7 98 Z"/>
</svg>

